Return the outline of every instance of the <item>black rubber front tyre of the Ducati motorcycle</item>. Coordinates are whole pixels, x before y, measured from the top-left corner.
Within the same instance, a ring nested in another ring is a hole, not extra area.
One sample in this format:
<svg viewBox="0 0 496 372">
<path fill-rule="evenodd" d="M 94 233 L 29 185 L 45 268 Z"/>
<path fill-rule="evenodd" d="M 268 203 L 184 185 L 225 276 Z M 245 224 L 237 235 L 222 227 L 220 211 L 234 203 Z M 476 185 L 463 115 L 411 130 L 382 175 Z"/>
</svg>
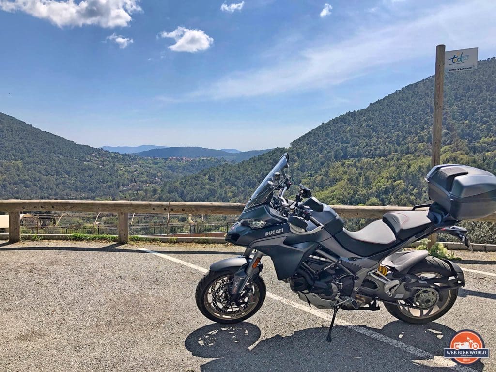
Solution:
<svg viewBox="0 0 496 372">
<path fill-rule="evenodd" d="M 253 289 L 253 297 L 255 300 L 253 304 L 249 304 L 245 309 L 240 310 L 238 313 L 233 313 L 232 316 L 230 316 L 229 313 L 224 314 L 218 311 L 215 308 L 215 305 L 210 302 L 210 298 L 212 297 L 210 291 L 212 288 L 214 288 L 216 291 L 219 289 L 219 287 L 216 287 L 218 285 L 218 283 L 216 282 L 233 276 L 234 274 L 228 270 L 209 271 L 198 283 L 195 293 L 196 306 L 198 307 L 200 312 L 210 320 L 223 324 L 239 323 L 243 320 L 248 319 L 263 305 L 267 290 L 265 288 L 265 282 L 263 281 L 262 277 L 258 276 L 255 282 L 251 285 Z"/>
</svg>

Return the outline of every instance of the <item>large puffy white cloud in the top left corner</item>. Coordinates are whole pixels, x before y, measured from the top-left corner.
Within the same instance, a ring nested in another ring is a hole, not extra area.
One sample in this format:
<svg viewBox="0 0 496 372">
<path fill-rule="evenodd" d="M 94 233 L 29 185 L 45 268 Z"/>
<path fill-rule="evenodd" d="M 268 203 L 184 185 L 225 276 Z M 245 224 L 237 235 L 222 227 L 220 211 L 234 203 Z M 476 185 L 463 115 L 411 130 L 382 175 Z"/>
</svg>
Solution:
<svg viewBox="0 0 496 372">
<path fill-rule="evenodd" d="M 98 25 L 106 28 L 124 27 L 131 14 L 141 11 L 139 0 L 0 0 L 0 10 L 23 11 L 46 19 L 59 27 Z"/>
</svg>

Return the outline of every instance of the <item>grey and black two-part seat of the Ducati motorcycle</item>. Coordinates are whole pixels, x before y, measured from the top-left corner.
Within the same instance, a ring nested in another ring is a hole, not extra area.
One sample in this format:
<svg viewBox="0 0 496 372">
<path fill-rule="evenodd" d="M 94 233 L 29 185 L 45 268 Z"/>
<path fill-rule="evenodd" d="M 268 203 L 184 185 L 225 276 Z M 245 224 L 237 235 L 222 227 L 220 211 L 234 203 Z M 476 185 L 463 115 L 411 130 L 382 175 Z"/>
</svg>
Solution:
<svg viewBox="0 0 496 372">
<path fill-rule="evenodd" d="M 387 212 L 359 231 L 343 229 L 335 239 L 343 248 L 360 256 L 372 256 L 385 251 L 424 231 L 436 222 L 431 211 Z"/>
</svg>

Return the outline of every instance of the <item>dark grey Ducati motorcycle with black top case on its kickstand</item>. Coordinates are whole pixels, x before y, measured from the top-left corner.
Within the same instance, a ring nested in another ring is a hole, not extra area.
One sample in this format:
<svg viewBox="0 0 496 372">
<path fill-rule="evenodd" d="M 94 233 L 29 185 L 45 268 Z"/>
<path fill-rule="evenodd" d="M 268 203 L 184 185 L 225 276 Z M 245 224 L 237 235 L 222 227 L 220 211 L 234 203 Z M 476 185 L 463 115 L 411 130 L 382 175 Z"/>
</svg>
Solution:
<svg viewBox="0 0 496 372">
<path fill-rule="evenodd" d="M 348 231 L 328 205 L 300 185 L 294 199 L 285 153 L 256 188 L 226 241 L 246 248 L 215 262 L 196 288 L 196 305 L 224 324 L 248 319 L 265 300 L 261 259 L 269 256 L 277 279 L 318 309 L 379 310 L 414 324 L 433 321 L 451 309 L 465 284 L 461 268 L 427 250 L 402 249 L 434 233 L 457 237 L 468 248 L 467 230 L 456 226 L 496 210 L 496 177 L 463 166 L 434 167 L 426 181 L 430 204 L 387 212 L 359 231 Z"/>
</svg>

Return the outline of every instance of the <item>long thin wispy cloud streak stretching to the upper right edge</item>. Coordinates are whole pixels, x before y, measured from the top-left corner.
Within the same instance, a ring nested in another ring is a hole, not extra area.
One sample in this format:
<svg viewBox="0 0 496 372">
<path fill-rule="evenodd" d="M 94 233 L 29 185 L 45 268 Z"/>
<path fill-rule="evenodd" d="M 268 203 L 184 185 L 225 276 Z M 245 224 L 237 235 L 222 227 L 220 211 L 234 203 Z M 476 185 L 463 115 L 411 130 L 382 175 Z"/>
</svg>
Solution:
<svg viewBox="0 0 496 372">
<path fill-rule="evenodd" d="M 362 28 L 341 41 L 325 37 L 300 52 L 281 52 L 270 65 L 230 73 L 191 92 L 189 98 L 230 99 L 329 88 L 379 67 L 434 61 L 439 43 L 448 50 L 477 46 L 479 51 L 494 52 L 495 12 L 496 1 L 468 1 L 436 7 L 416 19 Z M 472 20 L 477 20 L 477 27 L 466 27 L 462 33 L 449 26 Z"/>
</svg>

